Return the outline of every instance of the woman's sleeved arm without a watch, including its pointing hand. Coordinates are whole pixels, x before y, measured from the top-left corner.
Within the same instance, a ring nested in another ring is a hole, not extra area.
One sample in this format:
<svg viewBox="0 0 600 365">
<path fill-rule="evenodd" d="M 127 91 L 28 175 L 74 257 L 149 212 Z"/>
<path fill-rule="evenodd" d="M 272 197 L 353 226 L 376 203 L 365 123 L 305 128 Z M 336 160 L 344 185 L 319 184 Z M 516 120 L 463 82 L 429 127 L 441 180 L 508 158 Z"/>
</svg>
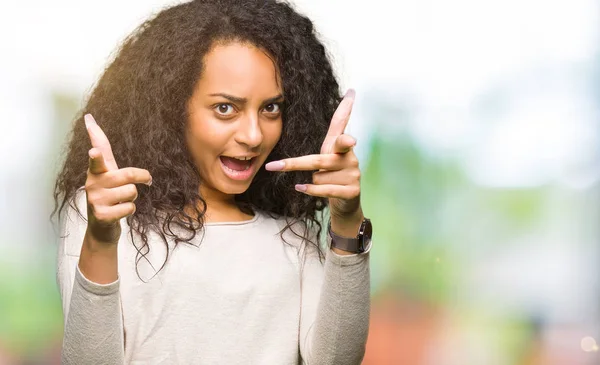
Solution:
<svg viewBox="0 0 600 365">
<path fill-rule="evenodd" d="M 117 257 L 120 221 L 135 212 L 135 184 L 150 185 L 152 177 L 143 169 L 119 169 L 102 129 L 90 114 L 84 119 L 92 149 L 85 194 L 76 203 L 87 215 L 82 219 L 68 207 L 58 257 L 65 317 L 62 363 L 119 365 L 125 347 Z"/>
</svg>

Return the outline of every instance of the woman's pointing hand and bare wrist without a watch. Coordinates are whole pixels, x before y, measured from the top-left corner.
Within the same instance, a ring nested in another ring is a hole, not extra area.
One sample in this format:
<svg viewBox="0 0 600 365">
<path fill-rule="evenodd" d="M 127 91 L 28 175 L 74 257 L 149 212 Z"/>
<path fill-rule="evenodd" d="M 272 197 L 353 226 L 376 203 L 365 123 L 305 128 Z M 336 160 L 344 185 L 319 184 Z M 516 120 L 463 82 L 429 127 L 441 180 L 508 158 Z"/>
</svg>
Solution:
<svg viewBox="0 0 600 365">
<path fill-rule="evenodd" d="M 91 114 L 84 116 L 92 142 L 85 181 L 88 227 L 86 234 L 96 243 L 116 245 L 121 236 L 121 218 L 135 212 L 135 184 L 152 184 L 150 172 L 135 167 L 119 169 L 108 138 Z"/>
</svg>

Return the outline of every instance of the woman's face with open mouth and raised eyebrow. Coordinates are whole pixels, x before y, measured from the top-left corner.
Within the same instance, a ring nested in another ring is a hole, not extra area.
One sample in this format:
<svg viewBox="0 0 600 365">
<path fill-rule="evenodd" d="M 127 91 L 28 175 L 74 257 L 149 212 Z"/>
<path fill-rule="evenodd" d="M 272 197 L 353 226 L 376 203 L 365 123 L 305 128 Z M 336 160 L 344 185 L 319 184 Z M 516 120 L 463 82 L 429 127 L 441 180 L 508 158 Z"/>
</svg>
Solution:
<svg viewBox="0 0 600 365">
<path fill-rule="evenodd" d="M 205 199 L 248 189 L 281 136 L 283 91 L 273 61 L 246 43 L 215 45 L 188 103 L 186 143 Z"/>
</svg>

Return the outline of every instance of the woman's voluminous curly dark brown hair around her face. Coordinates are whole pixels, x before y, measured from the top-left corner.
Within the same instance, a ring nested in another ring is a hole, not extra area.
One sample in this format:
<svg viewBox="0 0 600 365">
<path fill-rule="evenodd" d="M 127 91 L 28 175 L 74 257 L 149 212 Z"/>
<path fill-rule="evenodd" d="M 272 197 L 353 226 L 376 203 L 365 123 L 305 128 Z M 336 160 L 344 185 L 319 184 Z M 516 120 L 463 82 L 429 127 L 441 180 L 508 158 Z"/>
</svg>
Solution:
<svg viewBox="0 0 600 365">
<path fill-rule="evenodd" d="M 137 209 L 127 218 L 132 240 L 135 231 L 142 241 L 134 241 L 136 262 L 149 252 L 149 231 L 160 234 L 165 244 L 168 237 L 176 244 L 189 243 L 204 224 L 206 202 L 199 194 L 201 177 L 185 143 L 186 103 L 200 78 L 204 55 L 215 42 L 232 41 L 265 50 L 282 80 L 283 130 L 267 162 L 319 153 L 341 95 L 312 22 L 290 4 L 276 0 L 191 1 L 162 10 L 141 24 L 104 71 L 75 116 L 54 188 L 54 213 L 60 215 L 69 205 L 77 209 L 73 201 L 85 183 L 91 148 L 83 116 L 91 113 L 111 141 L 119 166 L 144 168 L 153 176 L 151 188 L 138 186 Z M 236 202 L 244 211 L 255 208 L 286 217 L 282 237 L 291 229 L 307 239 L 309 226 L 317 227 L 320 237 L 318 213 L 327 199 L 294 190 L 295 184 L 311 177 L 310 171 L 272 173 L 262 167 Z M 304 233 L 293 228 L 297 223 Z M 309 241 L 322 258 L 318 239 Z"/>
</svg>

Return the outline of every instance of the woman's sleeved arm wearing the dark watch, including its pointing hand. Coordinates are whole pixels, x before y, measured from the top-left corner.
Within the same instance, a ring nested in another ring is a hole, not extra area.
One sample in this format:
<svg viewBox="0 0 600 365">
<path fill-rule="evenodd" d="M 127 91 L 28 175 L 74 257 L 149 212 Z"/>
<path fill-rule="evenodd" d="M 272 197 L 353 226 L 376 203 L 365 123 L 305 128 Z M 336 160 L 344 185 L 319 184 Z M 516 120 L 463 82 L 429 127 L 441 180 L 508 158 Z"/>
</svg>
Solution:
<svg viewBox="0 0 600 365">
<path fill-rule="evenodd" d="M 312 184 L 295 188 L 329 198 L 331 229 L 343 237 L 356 236 L 364 218 L 361 172 L 353 151 L 356 140 L 344 134 L 354 96 L 354 90 L 348 90 L 336 109 L 320 154 L 265 165 L 269 171 L 316 171 Z M 360 364 L 369 327 L 369 253 L 353 255 L 334 248 L 327 252 L 324 269 L 319 268 L 315 254 L 308 255 L 305 269 L 299 339 L 302 358 L 311 365 Z"/>
</svg>

